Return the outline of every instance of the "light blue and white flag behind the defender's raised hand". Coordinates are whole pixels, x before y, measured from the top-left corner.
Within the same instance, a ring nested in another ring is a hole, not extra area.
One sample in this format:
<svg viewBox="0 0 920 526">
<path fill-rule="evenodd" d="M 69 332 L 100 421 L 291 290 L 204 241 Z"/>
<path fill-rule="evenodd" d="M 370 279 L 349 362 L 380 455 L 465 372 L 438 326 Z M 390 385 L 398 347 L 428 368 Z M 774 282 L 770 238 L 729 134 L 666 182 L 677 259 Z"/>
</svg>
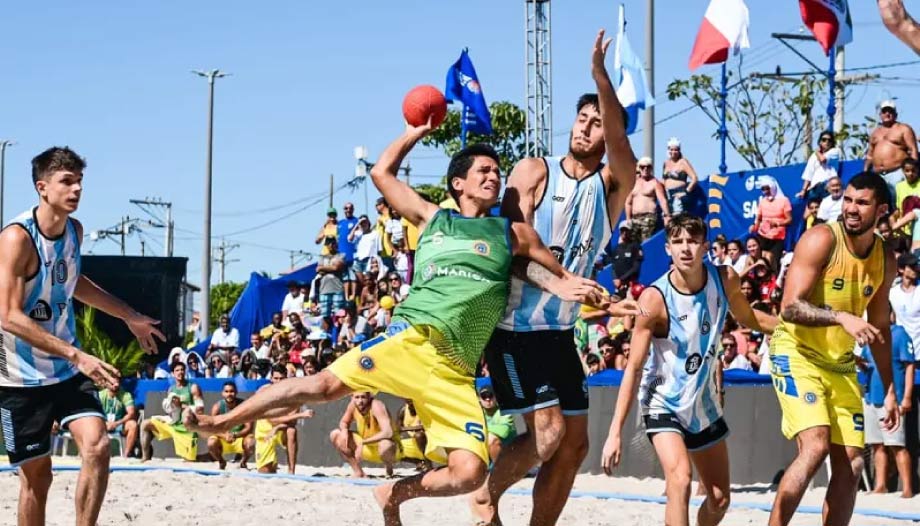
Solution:
<svg viewBox="0 0 920 526">
<path fill-rule="evenodd" d="M 636 131 L 639 123 L 639 110 L 651 108 L 655 99 L 648 90 L 645 78 L 645 66 L 636 56 L 626 38 L 626 10 L 620 4 L 620 26 L 617 31 L 617 47 L 613 55 L 613 85 L 617 89 L 617 98 L 629 115 L 626 133 Z"/>
</svg>

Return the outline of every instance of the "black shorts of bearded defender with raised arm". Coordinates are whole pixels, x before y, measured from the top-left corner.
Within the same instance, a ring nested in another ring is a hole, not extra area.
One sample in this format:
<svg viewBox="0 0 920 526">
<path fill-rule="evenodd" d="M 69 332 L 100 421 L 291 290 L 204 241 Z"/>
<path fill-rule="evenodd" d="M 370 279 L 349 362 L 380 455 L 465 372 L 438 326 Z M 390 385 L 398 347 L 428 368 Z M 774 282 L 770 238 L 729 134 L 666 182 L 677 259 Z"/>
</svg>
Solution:
<svg viewBox="0 0 920 526">
<path fill-rule="evenodd" d="M 495 329 L 485 356 L 502 413 L 559 405 L 566 416 L 588 414 L 588 387 L 573 330 Z"/>
</svg>

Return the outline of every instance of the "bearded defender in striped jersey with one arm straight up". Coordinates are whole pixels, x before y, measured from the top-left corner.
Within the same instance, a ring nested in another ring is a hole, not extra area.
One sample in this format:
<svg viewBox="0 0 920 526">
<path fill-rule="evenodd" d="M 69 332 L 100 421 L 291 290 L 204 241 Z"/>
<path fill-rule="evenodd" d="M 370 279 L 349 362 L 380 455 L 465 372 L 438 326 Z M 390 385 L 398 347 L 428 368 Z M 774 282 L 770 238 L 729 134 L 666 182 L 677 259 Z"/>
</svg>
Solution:
<svg viewBox="0 0 920 526">
<path fill-rule="evenodd" d="M 591 58 L 597 94 L 578 99 L 568 153 L 520 161 L 502 201 L 505 217 L 533 225 L 566 270 L 579 276 L 590 275 L 636 182 L 625 114 L 604 65 L 609 43 L 600 31 Z M 512 279 L 508 308 L 485 356 L 502 413 L 523 415 L 528 432 L 502 449 L 473 495 L 483 522 L 500 522 L 499 498 L 538 463 L 530 523 L 555 524 L 565 507 L 588 453 L 588 390 L 573 334 L 578 310 L 577 303 Z"/>
</svg>

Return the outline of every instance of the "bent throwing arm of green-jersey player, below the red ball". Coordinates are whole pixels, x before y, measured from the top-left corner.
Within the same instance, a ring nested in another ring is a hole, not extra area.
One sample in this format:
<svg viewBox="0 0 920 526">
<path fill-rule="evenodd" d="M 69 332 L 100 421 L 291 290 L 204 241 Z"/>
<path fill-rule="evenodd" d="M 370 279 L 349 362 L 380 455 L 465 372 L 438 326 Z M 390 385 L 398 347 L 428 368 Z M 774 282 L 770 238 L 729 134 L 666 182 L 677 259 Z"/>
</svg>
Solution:
<svg viewBox="0 0 920 526">
<path fill-rule="evenodd" d="M 415 143 L 431 130 L 430 119 L 422 126 L 407 124 L 406 131 L 387 146 L 380 155 L 380 160 L 371 169 L 371 179 L 383 198 L 400 216 L 418 226 L 419 231 L 424 230 L 428 220 L 438 211 L 438 206 L 422 199 L 411 186 L 400 181 L 396 174 Z"/>
</svg>

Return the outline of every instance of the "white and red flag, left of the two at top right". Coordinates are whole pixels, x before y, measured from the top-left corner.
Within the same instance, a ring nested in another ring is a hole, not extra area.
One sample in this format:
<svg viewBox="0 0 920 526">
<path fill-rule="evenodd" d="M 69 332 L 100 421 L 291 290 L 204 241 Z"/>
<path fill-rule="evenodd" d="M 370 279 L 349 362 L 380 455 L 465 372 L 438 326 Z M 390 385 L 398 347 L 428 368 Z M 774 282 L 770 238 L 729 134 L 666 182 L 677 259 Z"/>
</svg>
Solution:
<svg viewBox="0 0 920 526">
<path fill-rule="evenodd" d="M 703 64 L 720 64 L 735 53 L 751 47 L 747 37 L 748 10 L 744 0 L 712 0 L 690 53 L 690 69 Z"/>
</svg>

